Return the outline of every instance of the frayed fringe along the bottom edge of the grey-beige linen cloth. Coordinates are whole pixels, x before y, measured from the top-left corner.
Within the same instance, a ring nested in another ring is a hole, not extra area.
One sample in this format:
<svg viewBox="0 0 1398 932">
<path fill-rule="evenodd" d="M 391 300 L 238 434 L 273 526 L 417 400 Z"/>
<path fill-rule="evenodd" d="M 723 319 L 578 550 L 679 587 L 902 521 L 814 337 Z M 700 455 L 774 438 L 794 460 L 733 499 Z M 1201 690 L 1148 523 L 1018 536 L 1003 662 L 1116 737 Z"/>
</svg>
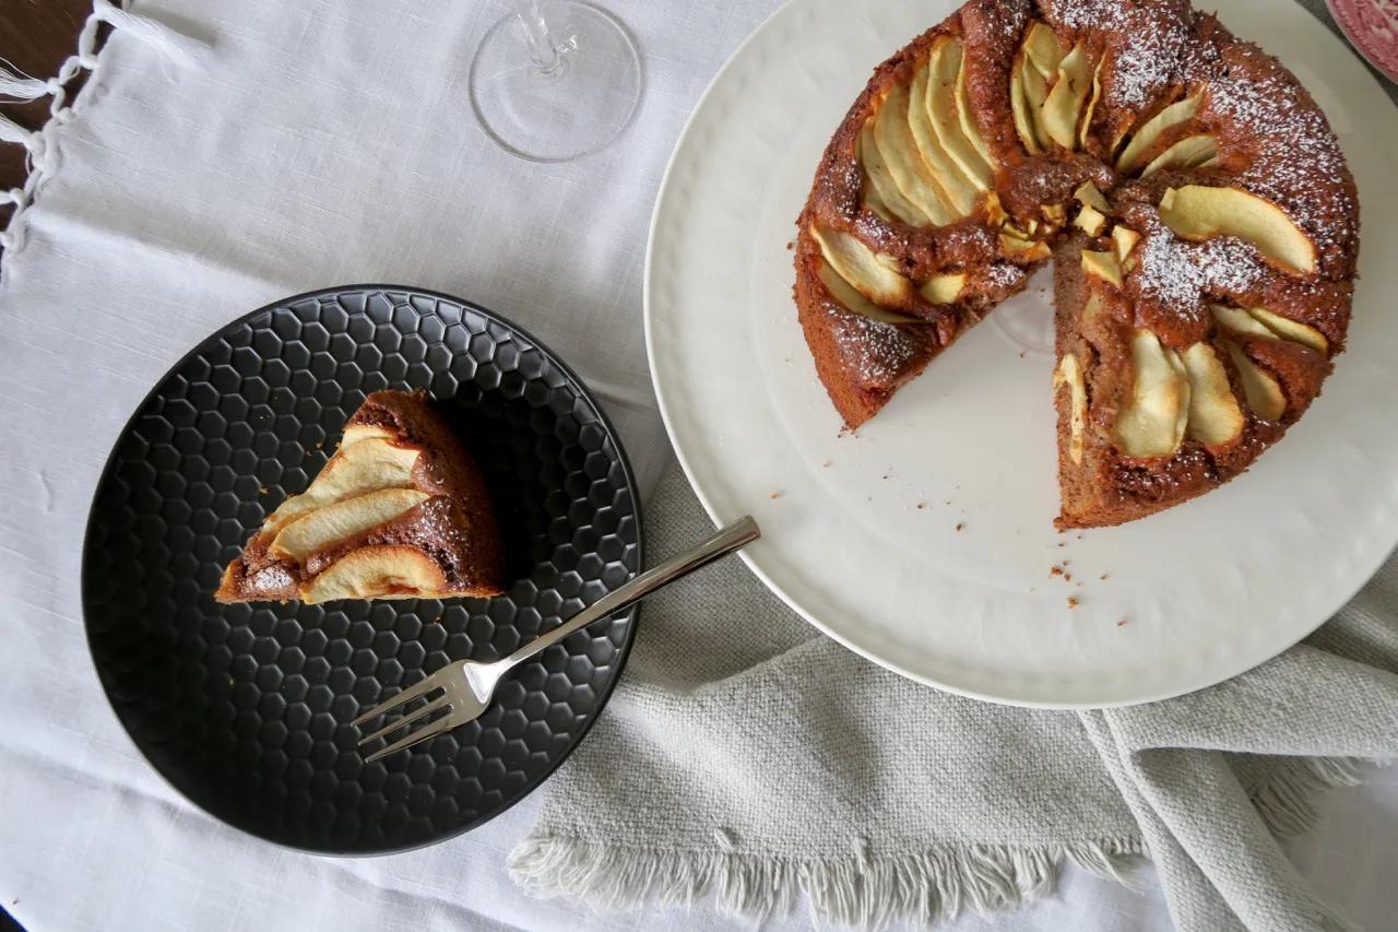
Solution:
<svg viewBox="0 0 1398 932">
<path fill-rule="evenodd" d="M 860 841 L 849 858 L 795 861 L 738 852 L 731 838 L 720 838 L 716 851 L 678 852 L 542 835 L 514 848 L 510 876 L 538 894 L 607 910 L 649 900 L 692 905 L 713 891 L 720 912 L 765 918 L 788 912 L 804 893 L 812 919 L 884 928 L 952 919 L 965 910 L 1015 910 L 1051 893 L 1069 859 L 1125 880 L 1142 856 L 1138 840 L 1062 848 L 955 845 L 891 856 L 874 855 Z"/>
</svg>

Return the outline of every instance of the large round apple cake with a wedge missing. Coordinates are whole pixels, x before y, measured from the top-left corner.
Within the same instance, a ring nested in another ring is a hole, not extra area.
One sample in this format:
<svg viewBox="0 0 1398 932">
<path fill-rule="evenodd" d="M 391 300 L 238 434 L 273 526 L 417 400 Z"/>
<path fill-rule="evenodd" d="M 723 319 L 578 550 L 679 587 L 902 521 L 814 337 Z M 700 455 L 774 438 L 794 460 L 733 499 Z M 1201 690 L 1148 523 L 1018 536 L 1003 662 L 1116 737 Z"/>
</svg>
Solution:
<svg viewBox="0 0 1398 932">
<path fill-rule="evenodd" d="M 1186 0 L 970 0 L 878 66 L 798 220 L 849 428 L 1054 263 L 1060 528 L 1247 469 L 1345 347 L 1359 202 L 1324 113 Z"/>
</svg>

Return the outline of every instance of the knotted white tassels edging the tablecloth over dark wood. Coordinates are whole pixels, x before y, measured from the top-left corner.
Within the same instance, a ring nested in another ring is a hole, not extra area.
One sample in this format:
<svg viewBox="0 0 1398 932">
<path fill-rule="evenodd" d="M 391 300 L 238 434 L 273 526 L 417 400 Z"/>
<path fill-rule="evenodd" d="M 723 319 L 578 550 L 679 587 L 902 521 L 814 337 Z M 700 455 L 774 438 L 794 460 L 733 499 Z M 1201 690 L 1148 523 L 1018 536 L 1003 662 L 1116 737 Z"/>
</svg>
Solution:
<svg viewBox="0 0 1398 932">
<path fill-rule="evenodd" d="M 73 118 L 73 108 L 67 104 L 67 85 L 81 71 L 96 69 L 96 32 L 103 22 L 159 50 L 162 63 L 172 60 L 187 64 L 208 52 L 208 45 L 199 39 L 176 32 L 154 20 L 127 13 L 113 6 L 110 0 L 92 0 L 92 13 L 78 32 L 77 52 L 59 66 L 59 73 L 55 77 L 41 81 L 0 67 L 0 97 L 13 97 L 21 101 L 52 97 L 49 119 L 38 130 L 31 132 L 7 118 L 0 118 L 0 143 L 18 143 L 29 150 L 24 186 L 0 192 L 0 204 L 14 204 L 10 223 L 4 231 L 0 231 L 0 249 L 4 250 L 4 256 L 0 259 L 8 260 L 10 255 L 24 248 L 27 228 L 24 214 L 34 203 L 39 188 L 59 168 L 59 151 L 55 146 L 56 130 Z M 0 264 L 0 271 L 3 267 Z"/>
</svg>

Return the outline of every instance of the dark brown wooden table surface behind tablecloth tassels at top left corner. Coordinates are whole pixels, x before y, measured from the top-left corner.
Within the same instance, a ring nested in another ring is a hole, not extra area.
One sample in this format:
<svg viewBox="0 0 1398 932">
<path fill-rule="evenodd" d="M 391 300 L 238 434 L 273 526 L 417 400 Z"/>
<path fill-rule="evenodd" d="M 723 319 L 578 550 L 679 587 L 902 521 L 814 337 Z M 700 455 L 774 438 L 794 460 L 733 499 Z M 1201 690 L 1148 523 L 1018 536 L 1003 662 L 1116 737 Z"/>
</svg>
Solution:
<svg viewBox="0 0 1398 932">
<path fill-rule="evenodd" d="M 91 10 L 92 0 L 0 0 L 0 57 L 31 77 L 53 77 L 63 60 L 77 50 L 78 31 Z M 49 116 L 49 98 L 0 104 L 0 113 L 35 129 Z M 0 143 L 0 189 L 22 183 L 24 147 Z M 10 210 L 0 207 L 0 227 Z"/>
</svg>

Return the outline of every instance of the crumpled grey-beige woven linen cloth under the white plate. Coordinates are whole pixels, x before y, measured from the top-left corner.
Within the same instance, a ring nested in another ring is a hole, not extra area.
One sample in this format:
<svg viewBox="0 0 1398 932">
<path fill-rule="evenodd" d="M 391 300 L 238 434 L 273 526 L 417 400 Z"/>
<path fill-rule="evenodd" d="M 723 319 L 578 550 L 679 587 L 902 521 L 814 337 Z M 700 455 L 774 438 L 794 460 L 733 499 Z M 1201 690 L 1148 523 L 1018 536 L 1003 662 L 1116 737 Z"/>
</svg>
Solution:
<svg viewBox="0 0 1398 932">
<path fill-rule="evenodd" d="M 651 547 L 707 526 L 672 469 Z M 1250 673 L 1083 714 L 910 683 L 728 563 L 651 598 L 607 716 L 513 865 L 604 907 L 712 891 L 765 914 L 801 891 L 877 926 L 1016 907 L 1064 861 L 1118 876 L 1148 849 L 1180 928 L 1329 928 L 1342 918 L 1276 834 L 1310 826 L 1316 789 L 1356 779 L 1350 757 L 1398 757 L 1398 557 Z"/>
</svg>

